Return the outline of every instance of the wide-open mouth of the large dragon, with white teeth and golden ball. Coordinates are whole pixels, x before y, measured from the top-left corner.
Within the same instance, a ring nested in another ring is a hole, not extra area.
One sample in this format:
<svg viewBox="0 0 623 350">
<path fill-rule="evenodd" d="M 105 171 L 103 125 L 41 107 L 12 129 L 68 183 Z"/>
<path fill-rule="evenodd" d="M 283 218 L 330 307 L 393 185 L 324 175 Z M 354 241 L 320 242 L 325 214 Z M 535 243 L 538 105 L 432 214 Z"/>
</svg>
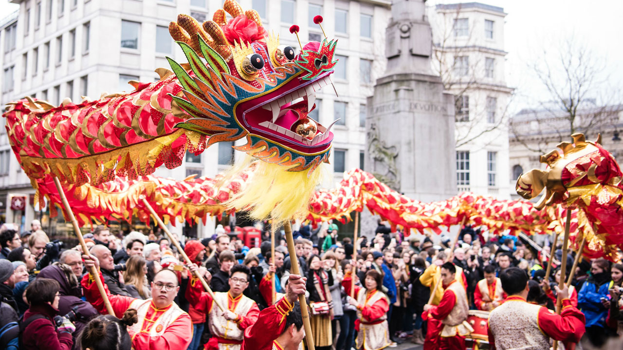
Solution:
<svg viewBox="0 0 623 350">
<path fill-rule="evenodd" d="M 293 78 L 274 92 L 240 104 L 242 120 L 252 133 L 275 141 L 287 141 L 287 146 L 326 148 L 333 140 L 331 127 L 326 128 L 308 116 L 315 108 L 316 93 L 331 84 L 327 72 L 314 80 Z M 301 83 L 303 82 L 303 83 Z M 245 107 L 249 106 L 247 110 Z M 238 108 L 237 108 L 238 109 Z M 307 133 L 296 126 L 307 126 Z M 301 135 L 302 134 L 302 135 Z"/>
</svg>

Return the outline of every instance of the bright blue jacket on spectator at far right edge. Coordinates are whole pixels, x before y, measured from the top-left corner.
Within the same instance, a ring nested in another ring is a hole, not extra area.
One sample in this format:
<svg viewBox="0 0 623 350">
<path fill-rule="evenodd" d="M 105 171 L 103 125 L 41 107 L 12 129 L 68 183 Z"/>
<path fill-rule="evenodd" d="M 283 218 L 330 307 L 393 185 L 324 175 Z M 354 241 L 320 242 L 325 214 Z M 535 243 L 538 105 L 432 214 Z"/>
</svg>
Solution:
<svg viewBox="0 0 623 350">
<path fill-rule="evenodd" d="M 610 298 L 608 290 L 611 286 L 612 281 L 609 281 L 597 288 L 595 281 L 590 277 L 578 292 L 578 308 L 586 317 L 586 327 L 606 326 L 608 309 L 604 308 L 604 305 L 602 305 L 601 298 Z"/>
</svg>

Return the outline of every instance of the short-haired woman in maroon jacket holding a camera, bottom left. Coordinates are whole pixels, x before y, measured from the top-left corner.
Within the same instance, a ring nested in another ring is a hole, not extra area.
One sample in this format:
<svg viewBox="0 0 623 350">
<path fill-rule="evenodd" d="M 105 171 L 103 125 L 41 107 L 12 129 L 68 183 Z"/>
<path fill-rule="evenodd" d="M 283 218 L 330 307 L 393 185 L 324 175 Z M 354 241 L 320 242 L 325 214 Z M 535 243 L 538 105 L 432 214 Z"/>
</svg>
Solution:
<svg viewBox="0 0 623 350">
<path fill-rule="evenodd" d="M 26 288 L 26 300 L 31 305 L 24 313 L 20 328 L 23 349 L 69 350 L 74 345 L 75 326 L 67 318 L 55 328 L 54 316 L 59 313 L 59 282 L 37 278 Z"/>
</svg>

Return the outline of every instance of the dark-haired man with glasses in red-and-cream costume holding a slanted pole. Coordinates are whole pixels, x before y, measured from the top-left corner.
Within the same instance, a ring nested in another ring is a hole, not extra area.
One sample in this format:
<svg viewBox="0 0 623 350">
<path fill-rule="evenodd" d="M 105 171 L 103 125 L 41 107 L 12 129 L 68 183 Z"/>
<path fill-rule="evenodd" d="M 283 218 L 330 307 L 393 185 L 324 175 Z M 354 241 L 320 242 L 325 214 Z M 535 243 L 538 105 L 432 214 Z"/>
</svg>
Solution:
<svg viewBox="0 0 623 350">
<path fill-rule="evenodd" d="M 239 350 L 244 338 L 244 330 L 257 321 L 260 309 L 255 301 L 249 297 L 242 295 L 242 292 L 249 286 L 249 278 L 251 271 L 245 265 L 235 265 L 231 269 L 229 277 L 229 291 L 223 293 L 217 291 L 214 298 L 226 306 L 225 312 L 214 305 L 214 300 L 207 291 L 204 291 L 199 278 L 196 278 L 194 272 L 198 270 L 196 264 L 190 266 L 193 272 L 193 278 L 188 282 L 186 288 L 186 299 L 198 311 L 208 315 L 208 325 L 212 338 L 207 342 L 207 350 Z M 206 280 L 209 281 L 212 276 L 209 272 Z"/>
</svg>

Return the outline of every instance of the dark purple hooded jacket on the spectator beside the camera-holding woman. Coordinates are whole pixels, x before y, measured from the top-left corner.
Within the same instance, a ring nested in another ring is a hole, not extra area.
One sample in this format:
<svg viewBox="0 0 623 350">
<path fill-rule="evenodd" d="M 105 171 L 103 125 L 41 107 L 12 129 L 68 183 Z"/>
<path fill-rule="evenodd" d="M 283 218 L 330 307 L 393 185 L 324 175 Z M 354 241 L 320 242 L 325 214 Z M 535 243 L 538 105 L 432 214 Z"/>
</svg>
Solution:
<svg viewBox="0 0 623 350">
<path fill-rule="evenodd" d="M 60 300 L 59 300 L 59 315 L 67 315 L 75 306 L 78 306 L 78 311 L 82 318 L 75 322 L 76 330 L 73 334 L 75 337 L 80 334 L 80 331 L 93 317 L 99 315 L 97 310 L 87 301 L 82 300 L 82 286 L 78 282 L 78 278 L 72 272 L 72 269 L 62 263 L 54 263 L 45 267 L 37 277 L 51 278 L 59 282 Z M 74 349 L 79 349 L 74 342 Z"/>
</svg>

